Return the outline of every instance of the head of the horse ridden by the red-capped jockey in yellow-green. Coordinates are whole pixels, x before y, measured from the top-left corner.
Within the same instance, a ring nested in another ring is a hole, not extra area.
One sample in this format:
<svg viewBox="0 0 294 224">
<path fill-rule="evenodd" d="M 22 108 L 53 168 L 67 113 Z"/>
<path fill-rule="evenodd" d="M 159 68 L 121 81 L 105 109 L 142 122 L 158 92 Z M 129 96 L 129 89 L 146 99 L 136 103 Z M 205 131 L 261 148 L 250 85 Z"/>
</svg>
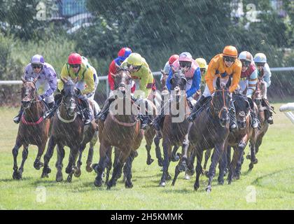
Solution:
<svg viewBox="0 0 294 224">
<path fill-rule="evenodd" d="M 76 83 L 73 80 L 61 78 L 64 87 L 62 90 L 62 104 L 68 116 L 73 116 L 76 109 Z"/>
</svg>

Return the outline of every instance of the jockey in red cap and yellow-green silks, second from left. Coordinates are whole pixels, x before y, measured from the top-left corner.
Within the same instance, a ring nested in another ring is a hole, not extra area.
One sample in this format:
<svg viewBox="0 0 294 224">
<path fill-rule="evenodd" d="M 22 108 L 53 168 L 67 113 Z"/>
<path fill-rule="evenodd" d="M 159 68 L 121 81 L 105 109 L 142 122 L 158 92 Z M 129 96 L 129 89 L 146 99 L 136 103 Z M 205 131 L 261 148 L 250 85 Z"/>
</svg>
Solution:
<svg viewBox="0 0 294 224">
<path fill-rule="evenodd" d="M 60 78 L 71 78 L 72 80 L 77 79 L 76 88 L 78 92 L 78 99 L 80 99 L 81 106 L 83 106 L 85 125 L 91 122 L 91 112 L 89 108 L 88 97 L 94 97 L 95 82 L 94 82 L 94 70 L 91 68 L 90 64 L 83 60 L 82 57 L 73 52 L 69 55 L 68 62 L 62 67 L 60 73 Z M 63 89 L 63 83 L 60 79 L 57 87 L 59 91 Z M 55 110 L 58 108 L 61 102 L 61 97 L 56 101 L 55 109 L 52 109 L 47 116 L 52 116 Z"/>
</svg>

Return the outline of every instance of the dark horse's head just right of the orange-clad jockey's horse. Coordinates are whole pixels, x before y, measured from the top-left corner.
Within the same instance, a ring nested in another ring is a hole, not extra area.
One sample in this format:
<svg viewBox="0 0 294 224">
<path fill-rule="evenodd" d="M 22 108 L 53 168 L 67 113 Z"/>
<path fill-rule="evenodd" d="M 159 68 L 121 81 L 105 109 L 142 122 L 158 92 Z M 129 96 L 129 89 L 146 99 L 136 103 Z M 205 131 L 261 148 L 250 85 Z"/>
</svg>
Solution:
<svg viewBox="0 0 294 224">
<path fill-rule="evenodd" d="M 233 103 L 235 105 L 237 125 L 240 130 L 246 127 L 246 118 L 249 115 L 250 104 L 246 95 L 233 94 Z"/>
</svg>

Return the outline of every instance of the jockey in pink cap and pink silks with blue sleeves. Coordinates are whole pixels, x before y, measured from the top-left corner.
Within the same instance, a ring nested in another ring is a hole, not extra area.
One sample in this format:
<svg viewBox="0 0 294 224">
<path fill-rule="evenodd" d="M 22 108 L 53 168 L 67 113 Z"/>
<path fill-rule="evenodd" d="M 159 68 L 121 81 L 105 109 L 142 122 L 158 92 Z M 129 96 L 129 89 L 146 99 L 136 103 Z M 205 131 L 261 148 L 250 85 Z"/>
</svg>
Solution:
<svg viewBox="0 0 294 224">
<path fill-rule="evenodd" d="M 195 60 L 193 60 L 193 57 L 189 52 L 182 52 L 179 56 L 179 59 L 176 59 L 176 61 L 174 61 L 174 63 L 172 64 L 172 69 L 169 69 L 169 77 L 167 78 L 167 89 L 169 91 L 171 91 L 172 87 L 170 79 L 172 78 L 174 71 L 177 71 L 179 69 L 185 69 L 183 73 L 185 75 L 185 78 L 187 79 L 186 97 L 188 99 L 188 102 L 190 102 L 190 104 L 194 106 L 196 102 L 195 99 L 193 99 L 193 94 L 195 94 L 197 90 L 200 90 L 200 68 Z M 164 110 L 165 106 L 163 106 L 160 114 L 153 121 L 155 130 L 160 130 L 162 122 L 165 118 Z"/>
</svg>

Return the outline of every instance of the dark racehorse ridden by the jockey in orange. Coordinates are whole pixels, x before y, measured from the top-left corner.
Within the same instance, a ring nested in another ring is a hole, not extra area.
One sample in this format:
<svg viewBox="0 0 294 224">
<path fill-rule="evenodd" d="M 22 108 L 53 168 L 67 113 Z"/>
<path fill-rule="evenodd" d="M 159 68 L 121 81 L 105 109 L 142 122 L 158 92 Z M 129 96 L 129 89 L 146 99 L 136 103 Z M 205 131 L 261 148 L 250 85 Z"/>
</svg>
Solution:
<svg viewBox="0 0 294 224">
<path fill-rule="evenodd" d="M 214 179 L 216 172 L 216 165 L 221 159 L 221 155 L 225 151 L 225 141 L 229 135 L 229 105 L 232 99 L 229 92 L 231 85 L 231 78 L 228 78 L 228 82 L 225 84 L 225 80 L 221 83 L 221 79 L 216 80 L 216 90 L 214 96 L 211 99 L 211 104 L 204 107 L 200 111 L 199 115 L 193 123 L 190 123 L 188 130 L 188 137 L 186 139 L 185 147 L 190 151 L 188 158 L 187 172 L 193 173 L 193 163 L 195 156 L 197 157 L 196 165 L 196 180 L 194 183 L 194 189 L 197 190 L 200 187 L 199 178 L 202 173 L 202 157 L 203 151 L 214 148 L 214 153 L 211 158 L 211 165 L 207 176 L 209 177 L 209 183 L 206 188 L 208 192 L 211 191 L 211 182 Z M 187 149 L 184 149 L 185 151 Z M 224 169 L 225 167 L 222 167 Z M 173 183 L 176 181 L 176 176 Z"/>
</svg>

